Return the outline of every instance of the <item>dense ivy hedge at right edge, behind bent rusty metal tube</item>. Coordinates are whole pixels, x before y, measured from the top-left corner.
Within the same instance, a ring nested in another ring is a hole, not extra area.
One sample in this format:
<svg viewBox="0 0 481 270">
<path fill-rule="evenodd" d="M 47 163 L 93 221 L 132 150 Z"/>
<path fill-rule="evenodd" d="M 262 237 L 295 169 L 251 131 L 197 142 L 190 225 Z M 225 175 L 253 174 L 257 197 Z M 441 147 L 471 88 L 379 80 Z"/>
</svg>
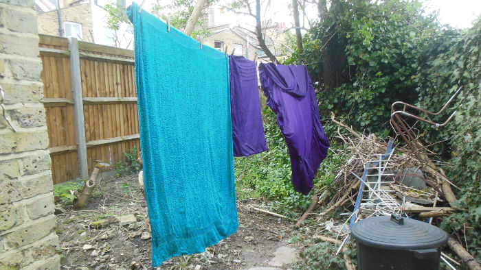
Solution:
<svg viewBox="0 0 481 270">
<path fill-rule="evenodd" d="M 456 232 L 469 250 L 481 261 L 481 19 L 471 29 L 445 29 L 429 42 L 419 58 L 418 106 L 438 111 L 459 86 L 462 93 L 441 116 L 433 120 L 443 123 L 449 114 L 456 116 L 446 127 L 423 126 L 427 142 L 443 141 L 434 146 L 441 158 L 452 167 L 445 167 L 458 197 L 456 204 L 467 208 L 443 220 L 441 228 Z"/>
</svg>

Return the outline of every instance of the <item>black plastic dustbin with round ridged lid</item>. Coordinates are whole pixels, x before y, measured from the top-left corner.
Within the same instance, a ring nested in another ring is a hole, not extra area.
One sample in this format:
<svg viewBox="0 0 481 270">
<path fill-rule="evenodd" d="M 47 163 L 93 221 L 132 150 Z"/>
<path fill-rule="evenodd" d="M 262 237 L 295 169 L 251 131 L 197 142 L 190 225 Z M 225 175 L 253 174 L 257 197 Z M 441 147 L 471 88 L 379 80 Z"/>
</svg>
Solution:
<svg viewBox="0 0 481 270">
<path fill-rule="evenodd" d="M 440 228 L 395 214 L 363 219 L 351 232 L 357 242 L 360 270 L 439 269 L 439 247 L 447 242 L 447 234 Z"/>
</svg>

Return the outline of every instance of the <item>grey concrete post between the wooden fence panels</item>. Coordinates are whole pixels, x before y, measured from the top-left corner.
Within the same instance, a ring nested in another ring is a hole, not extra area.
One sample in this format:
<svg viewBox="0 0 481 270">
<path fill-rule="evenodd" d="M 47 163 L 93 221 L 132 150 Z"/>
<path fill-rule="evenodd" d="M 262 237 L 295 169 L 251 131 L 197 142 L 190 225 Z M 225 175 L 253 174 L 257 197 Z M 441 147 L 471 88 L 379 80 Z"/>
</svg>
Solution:
<svg viewBox="0 0 481 270">
<path fill-rule="evenodd" d="M 70 51 L 70 78 L 72 97 L 74 98 L 74 125 L 75 141 L 77 144 L 78 171 L 80 178 L 89 178 L 89 167 L 87 164 L 87 145 L 85 142 L 85 119 L 84 104 L 82 101 L 82 79 L 80 75 L 80 56 L 78 54 L 78 41 L 76 38 L 69 38 Z"/>
</svg>

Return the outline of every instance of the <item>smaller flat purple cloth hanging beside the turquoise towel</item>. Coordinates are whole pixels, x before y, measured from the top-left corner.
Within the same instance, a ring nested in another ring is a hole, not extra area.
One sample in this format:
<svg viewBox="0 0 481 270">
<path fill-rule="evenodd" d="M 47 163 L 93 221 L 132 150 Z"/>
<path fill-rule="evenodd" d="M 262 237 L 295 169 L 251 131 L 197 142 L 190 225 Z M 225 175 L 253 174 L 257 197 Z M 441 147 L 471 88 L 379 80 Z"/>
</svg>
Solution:
<svg viewBox="0 0 481 270">
<path fill-rule="evenodd" d="M 234 156 L 250 156 L 266 151 L 256 63 L 243 56 L 229 56 L 229 66 Z"/>
</svg>

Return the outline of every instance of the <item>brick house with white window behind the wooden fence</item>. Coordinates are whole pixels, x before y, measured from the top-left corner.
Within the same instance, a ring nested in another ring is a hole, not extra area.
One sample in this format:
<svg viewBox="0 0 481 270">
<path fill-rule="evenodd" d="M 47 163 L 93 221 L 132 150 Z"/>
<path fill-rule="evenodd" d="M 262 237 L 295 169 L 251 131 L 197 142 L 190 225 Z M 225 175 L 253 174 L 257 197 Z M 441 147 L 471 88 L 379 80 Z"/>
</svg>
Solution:
<svg viewBox="0 0 481 270">
<path fill-rule="evenodd" d="M 133 49 L 131 25 L 122 24 L 119 31 L 107 27 L 107 0 L 35 0 L 38 34 L 74 36 L 78 40 Z M 60 23 L 58 21 L 60 14 Z M 61 32 L 61 33 L 60 33 Z"/>
</svg>

